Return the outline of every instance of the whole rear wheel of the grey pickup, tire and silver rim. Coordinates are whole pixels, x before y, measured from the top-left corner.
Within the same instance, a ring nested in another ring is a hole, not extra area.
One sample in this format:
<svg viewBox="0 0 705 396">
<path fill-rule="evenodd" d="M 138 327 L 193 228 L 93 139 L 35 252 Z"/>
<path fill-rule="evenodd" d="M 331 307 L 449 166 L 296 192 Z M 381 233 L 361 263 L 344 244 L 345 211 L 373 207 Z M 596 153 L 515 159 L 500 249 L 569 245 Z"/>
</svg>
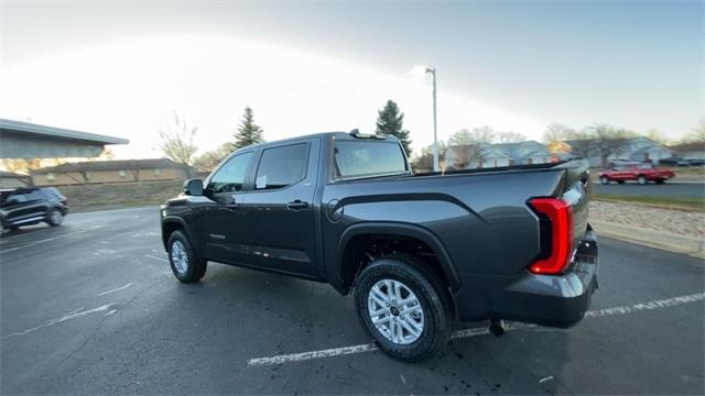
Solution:
<svg viewBox="0 0 705 396">
<path fill-rule="evenodd" d="M 451 337 L 449 297 L 438 277 L 413 256 L 376 260 L 355 288 L 357 316 L 379 349 L 403 361 L 436 354 Z"/>
</svg>

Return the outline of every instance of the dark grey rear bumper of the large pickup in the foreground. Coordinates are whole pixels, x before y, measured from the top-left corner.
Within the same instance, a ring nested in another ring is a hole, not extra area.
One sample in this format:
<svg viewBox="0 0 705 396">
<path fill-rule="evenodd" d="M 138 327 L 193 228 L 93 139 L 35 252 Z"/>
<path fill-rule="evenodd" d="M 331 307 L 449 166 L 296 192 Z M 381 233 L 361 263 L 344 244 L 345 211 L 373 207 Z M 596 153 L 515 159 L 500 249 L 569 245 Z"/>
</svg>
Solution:
<svg viewBox="0 0 705 396">
<path fill-rule="evenodd" d="M 509 319 L 571 327 L 585 316 L 597 289 L 598 248 L 588 226 L 568 271 L 561 276 L 528 271 L 512 277 L 464 276 L 454 296 L 460 321 Z"/>
</svg>

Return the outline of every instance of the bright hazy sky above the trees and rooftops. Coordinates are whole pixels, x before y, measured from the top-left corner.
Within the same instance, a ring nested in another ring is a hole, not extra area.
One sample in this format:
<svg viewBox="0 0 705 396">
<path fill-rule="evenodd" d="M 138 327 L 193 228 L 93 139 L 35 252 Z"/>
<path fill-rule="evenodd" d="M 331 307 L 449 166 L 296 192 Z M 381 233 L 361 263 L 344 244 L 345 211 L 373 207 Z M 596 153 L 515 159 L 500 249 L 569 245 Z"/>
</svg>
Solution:
<svg viewBox="0 0 705 396">
<path fill-rule="evenodd" d="M 607 122 L 679 138 L 704 110 L 704 2 L 2 1 L 0 117 L 128 138 L 172 114 L 209 150 L 245 106 L 268 140 L 373 129 L 387 99 L 417 150 L 491 125 Z"/>
</svg>

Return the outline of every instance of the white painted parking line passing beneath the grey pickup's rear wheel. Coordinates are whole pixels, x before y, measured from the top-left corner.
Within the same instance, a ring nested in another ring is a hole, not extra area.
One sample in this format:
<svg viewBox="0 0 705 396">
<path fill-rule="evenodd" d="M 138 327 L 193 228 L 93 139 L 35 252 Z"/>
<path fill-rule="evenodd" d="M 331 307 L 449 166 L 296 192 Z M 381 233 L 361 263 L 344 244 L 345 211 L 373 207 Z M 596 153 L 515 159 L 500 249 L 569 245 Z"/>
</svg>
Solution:
<svg viewBox="0 0 705 396">
<path fill-rule="evenodd" d="M 601 318 L 607 316 L 620 316 L 620 315 L 627 315 L 627 314 L 634 314 L 642 310 L 653 310 L 659 308 L 675 307 L 683 304 L 702 301 L 703 299 L 705 299 L 705 293 L 696 293 L 696 294 L 686 295 L 686 296 L 679 296 L 679 297 L 666 298 L 661 300 L 634 304 L 631 306 L 592 310 L 592 311 L 587 311 L 585 314 L 585 317 Z M 535 327 L 538 326 L 525 324 L 525 323 L 510 323 L 505 327 L 505 331 L 513 331 L 513 330 L 529 329 L 529 328 L 535 328 Z M 453 339 L 463 339 L 463 338 L 485 336 L 485 334 L 489 334 L 488 328 L 486 327 L 471 328 L 471 329 L 464 329 L 455 332 L 453 334 Z M 377 350 L 378 348 L 375 346 L 373 343 L 367 343 L 367 344 L 358 344 L 358 345 L 351 345 L 351 346 L 332 348 L 332 349 L 321 350 L 321 351 L 283 354 L 283 355 L 276 355 L 276 356 L 270 356 L 270 358 L 256 358 L 256 359 L 248 360 L 247 365 L 250 367 L 275 365 L 275 364 L 282 364 L 282 363 L 308 361 L 314 359 L 341 356 L 341 355 L 354 354 L 354 353 L 371 352 Z"/>
</svg>

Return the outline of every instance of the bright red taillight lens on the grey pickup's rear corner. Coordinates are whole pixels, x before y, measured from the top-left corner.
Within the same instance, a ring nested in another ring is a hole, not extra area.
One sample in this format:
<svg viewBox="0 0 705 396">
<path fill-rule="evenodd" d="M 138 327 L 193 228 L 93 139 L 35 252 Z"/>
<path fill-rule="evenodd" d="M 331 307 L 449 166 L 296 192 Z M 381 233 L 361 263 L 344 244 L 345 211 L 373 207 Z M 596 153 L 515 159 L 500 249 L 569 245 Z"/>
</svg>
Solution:
<svg viewBox="0 0 705 396">
<path fill-rule="evenodd" d="M 557 198 L 534 198 L 529 205 L 551 224 L 551 252 L 531 264 L 529 271 L 534 274 L 560 274 L 571 261 L 573 210 L 568 204 Z"/>
</svg>

